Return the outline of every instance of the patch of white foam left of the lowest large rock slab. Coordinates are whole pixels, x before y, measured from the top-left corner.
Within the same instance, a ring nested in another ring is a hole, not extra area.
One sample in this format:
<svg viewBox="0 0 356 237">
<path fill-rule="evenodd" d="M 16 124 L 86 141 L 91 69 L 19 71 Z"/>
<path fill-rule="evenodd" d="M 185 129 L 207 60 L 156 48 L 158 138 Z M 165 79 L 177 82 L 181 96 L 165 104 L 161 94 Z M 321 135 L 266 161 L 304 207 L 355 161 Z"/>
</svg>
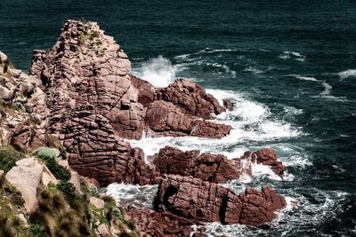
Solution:
<svg viewBox="0 0 356 237">
<path fill-rule="evenodd" d="M 102 194 L 113 197 L 120 205 L 132 205 L 137 208 L 151 208 L 158 186 L 134 186 L 110 184 L 101 190 Z"/>
</svg>

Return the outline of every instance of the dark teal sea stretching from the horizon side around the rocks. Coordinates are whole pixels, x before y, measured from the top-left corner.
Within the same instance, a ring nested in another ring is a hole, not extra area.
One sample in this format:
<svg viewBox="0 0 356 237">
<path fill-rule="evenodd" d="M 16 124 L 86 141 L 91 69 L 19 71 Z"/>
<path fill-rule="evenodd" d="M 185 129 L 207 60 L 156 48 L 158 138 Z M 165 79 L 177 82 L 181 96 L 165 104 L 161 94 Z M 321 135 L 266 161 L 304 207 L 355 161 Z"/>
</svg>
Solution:
<svg viewBox="0 0 356 237">
<path fill-rule="evenodd" d="M 212 233 L 356 235 L 356 1 L 48 2 L 0 2 L 0 50 L 15 67 L 27 70 L 31 51 L 49 49 L 65 20 L 97 21 L 137 74 L 166 71 L 166 80 L 236 96 L 229 120 L 239 132 L 214 151 L 271 146 L 287 163 L 287 180 L 248 185 L 274 186 L 299 209 L 267 230 Z"/>
</svg>

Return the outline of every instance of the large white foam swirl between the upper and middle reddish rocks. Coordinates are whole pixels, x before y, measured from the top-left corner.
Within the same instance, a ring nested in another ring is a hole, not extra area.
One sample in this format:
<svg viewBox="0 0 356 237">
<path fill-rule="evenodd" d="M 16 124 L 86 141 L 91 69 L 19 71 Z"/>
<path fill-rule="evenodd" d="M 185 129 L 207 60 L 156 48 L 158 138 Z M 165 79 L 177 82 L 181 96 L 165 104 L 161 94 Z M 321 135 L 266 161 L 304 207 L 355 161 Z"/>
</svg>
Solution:
<svg viewBox="0 0 356 237">
<path fill-rule="evenodd" d="M 301 134 L 291 124 L 271 118 L 268 107 L 247 99 L 234 91 L 206 90 L 223 104 L 223 99 L 231 99 L 235 107 L 214 122 L 223 122 L 232 126 L 231 134 L 220 139 L 196 137 L 144 137 L 140 140 L 128 140 L 132 146 L 142 147 L 147 156 L 158 153 L 164 146 L 176 146 L 183 151 L 198 149 L 202 152 L 222 153 L 236 158 L 247 151 L 247 146 L 256 141 L 272 141 L 280 138 L 294 138 Z M 251 142 L 251 143 L 250 143 Z M 149 161 L 148 161 L 149 162 Z"/>
</svg>

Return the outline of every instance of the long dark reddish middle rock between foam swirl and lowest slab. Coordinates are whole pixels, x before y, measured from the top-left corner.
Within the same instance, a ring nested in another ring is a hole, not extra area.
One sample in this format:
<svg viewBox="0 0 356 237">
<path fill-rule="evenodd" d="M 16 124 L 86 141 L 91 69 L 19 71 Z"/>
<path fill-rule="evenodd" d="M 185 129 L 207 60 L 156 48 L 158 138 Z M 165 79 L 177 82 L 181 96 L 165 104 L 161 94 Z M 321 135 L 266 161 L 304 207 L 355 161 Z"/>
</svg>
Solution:
<svg viewBox="0 0 356 237">
<path fill-rule="evenodd" d="M 172 146 L 160 149 L 152 163 L 161 174 L 192 176 L 220 184 L 238 179 L 241 174 L 239 162 L 228 160 L 223 154 L 200 154 L 198 150 L 182 152 Z"/>
</svg>

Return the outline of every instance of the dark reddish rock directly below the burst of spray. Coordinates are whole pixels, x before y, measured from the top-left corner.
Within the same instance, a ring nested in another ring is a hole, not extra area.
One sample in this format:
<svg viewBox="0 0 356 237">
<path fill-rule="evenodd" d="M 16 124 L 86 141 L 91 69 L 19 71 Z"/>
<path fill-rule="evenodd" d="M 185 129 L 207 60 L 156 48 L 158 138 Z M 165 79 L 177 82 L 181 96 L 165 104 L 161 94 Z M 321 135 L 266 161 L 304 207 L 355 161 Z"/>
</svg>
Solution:
<svg viewBox="0 0 356 237">
<path fill-rule="evenodd" d="M 172 102 L 182 107 L 190 115 L 204 119 L 211 118 L 212 114 L 219 115 L 225 111 L 212 95 L 206 94 L 206 90 L 185 79 L 178 79 L 166 88 L 158 90 L 158 99 Z"/>
</svg>

